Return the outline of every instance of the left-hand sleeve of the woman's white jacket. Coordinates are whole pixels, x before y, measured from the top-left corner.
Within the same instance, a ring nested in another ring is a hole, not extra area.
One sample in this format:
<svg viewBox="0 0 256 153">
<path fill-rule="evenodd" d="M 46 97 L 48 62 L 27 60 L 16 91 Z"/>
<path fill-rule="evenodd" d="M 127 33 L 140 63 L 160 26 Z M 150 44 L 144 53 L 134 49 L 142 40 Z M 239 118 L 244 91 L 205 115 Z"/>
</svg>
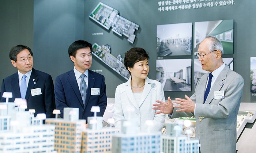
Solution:
<svg viewBox="0 0 256 153">
<path fill-rule="evenodd" d="M 124 112 L 121 104 L 120 90 L 119 87 L 116 88 L 115 93 L 115 103 L 114 103 L 114 114 L 113 118 L 115 119 L 115 127 L 121 129 L 121 122 L 124 119 Z"/>
</svg>

